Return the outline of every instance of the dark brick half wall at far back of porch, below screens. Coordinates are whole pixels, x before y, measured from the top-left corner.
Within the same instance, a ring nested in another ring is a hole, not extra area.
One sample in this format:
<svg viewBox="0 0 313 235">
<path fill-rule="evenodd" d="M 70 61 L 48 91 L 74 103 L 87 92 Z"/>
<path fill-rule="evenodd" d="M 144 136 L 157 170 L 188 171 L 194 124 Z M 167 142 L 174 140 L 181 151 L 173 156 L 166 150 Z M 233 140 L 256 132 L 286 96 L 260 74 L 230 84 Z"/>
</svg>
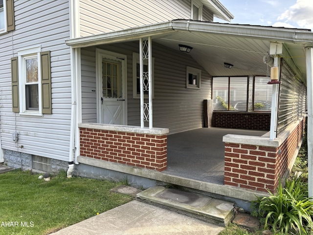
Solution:
<svg viewBox="0 0 313 235">
<path fill-rule="evenodd" d="M 269 131 L 270 113 L 214 111 L 213 126 L 220 128 Z"/>
</svg>

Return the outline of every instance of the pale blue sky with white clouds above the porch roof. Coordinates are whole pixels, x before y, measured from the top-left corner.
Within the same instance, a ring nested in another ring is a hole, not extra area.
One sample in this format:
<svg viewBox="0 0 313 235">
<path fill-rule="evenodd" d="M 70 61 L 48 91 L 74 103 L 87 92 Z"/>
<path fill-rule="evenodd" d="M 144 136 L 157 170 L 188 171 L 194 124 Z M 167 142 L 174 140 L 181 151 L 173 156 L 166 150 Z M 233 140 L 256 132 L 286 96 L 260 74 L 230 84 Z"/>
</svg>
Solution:
<svg viewBox="0 0 313 235">
<path fill-rule="evenodd" d="M 251 24 L 313 31 L 313 0 L 219 0 L 234 16 L 231 24 Z M 214 22 L 229 23 L 218 18 Z"/>
</svg>

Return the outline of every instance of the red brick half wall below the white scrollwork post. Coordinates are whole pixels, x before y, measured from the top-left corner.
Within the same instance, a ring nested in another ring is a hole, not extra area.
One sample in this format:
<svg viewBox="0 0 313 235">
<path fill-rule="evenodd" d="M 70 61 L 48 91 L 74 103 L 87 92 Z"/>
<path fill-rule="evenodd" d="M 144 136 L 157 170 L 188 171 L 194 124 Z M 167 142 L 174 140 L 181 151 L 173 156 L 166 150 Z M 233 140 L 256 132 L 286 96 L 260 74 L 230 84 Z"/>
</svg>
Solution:
<svg viewBox="0 0 313 235">
<path fill-rule="evenodd" d="M 80 127 L 80 155 L 163 171 L 167 166 L 167 135 Z"/>
</svg>

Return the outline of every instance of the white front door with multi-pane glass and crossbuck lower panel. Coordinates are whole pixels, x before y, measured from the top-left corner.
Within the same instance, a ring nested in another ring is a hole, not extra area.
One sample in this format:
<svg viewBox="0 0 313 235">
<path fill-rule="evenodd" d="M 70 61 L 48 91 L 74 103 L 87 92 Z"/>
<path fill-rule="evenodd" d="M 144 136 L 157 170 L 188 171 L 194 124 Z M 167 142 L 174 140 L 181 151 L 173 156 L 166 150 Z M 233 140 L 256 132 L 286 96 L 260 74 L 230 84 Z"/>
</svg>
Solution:
<svg viewBox="0 0 313 235">
<path fill-rule="evenodd" d="M 100 52 L 100 50 L 98 51 Z M 106 54 L 98 55 L 98 120 L 103 124 L 127 125 L 126 116 L 126 56 Z"/>
</svg>

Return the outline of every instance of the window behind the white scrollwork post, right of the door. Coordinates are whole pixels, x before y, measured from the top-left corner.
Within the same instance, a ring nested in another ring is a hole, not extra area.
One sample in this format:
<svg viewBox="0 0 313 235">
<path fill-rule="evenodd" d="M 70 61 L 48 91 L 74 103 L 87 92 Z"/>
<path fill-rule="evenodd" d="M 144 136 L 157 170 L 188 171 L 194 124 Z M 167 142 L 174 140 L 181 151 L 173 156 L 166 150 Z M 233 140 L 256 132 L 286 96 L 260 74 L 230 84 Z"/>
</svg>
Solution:
<svg viewBox="0 0 313 235">
<path fill-rule="evenodd" d="M 155 58 L 152 58 L 152 97 L 155 97 L 154 93 L 154 70 L 155 70 Z M 148 72 L 148 61 L 143 63 L 143 71 Z M 144 85 L 148 86 L 148 80 L 144 80 Z M 149 92 L 144 92 L 144 97 L 149 97 Z M 140 98 L 140 61 L 139 54 L 133 53 L 133 98 Z"/>
</svg>

